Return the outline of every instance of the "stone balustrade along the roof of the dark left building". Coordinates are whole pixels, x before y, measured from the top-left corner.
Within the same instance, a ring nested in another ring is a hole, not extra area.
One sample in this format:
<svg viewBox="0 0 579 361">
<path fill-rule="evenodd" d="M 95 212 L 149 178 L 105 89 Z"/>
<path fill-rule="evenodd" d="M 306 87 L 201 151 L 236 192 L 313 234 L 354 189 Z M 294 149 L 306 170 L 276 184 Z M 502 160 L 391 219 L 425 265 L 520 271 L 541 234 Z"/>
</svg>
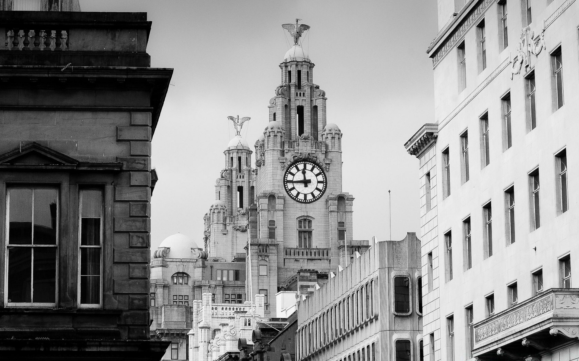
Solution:
<svg viewBox="0 0 579 361">
<path fill-rule="evenodd" d="M 7 50 L 61 51 L 68 50 L 68 31 L 18 27 L 6 31 Z"/>
</svg>

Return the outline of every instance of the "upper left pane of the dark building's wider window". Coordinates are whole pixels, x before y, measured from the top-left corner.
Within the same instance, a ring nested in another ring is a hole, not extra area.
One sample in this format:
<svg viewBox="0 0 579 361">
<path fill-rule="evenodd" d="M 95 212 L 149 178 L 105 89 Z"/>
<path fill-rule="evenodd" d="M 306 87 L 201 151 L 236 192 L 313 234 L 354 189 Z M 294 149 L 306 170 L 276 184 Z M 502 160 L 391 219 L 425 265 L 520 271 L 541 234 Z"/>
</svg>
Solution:
<svg viewBox="0 0 579 361">
<path fill-rule="evenodd" d="M 10 189 L 9 197 L 9 243 L 32 244 L 32 189 Z"/>
</svg>

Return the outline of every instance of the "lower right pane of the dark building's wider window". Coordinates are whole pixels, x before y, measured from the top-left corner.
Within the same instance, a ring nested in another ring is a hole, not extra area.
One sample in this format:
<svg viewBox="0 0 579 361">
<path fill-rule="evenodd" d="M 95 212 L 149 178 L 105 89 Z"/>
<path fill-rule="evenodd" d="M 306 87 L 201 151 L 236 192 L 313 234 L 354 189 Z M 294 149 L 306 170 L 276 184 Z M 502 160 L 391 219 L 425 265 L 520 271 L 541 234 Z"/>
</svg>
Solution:
<svg viewBox="0 0 579 361">
<path fill-rule="evenodd" d="M 54 303 L 56 297 L 56 247 L 34 248 L 32 302 Z"/>
</svg>

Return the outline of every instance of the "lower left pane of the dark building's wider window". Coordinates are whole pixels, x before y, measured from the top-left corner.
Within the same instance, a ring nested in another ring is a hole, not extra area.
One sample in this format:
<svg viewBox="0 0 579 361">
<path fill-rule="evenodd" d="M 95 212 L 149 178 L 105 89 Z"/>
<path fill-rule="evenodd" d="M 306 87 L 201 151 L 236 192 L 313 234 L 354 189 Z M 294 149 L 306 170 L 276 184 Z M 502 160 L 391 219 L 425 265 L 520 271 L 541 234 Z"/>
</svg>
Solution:
<svg viewBox="0 0 579 361">
<path fill-rule="evenodd" d="M 30 247 L 8 248 L 8 302 L 32 302 Z"/>
</svg>

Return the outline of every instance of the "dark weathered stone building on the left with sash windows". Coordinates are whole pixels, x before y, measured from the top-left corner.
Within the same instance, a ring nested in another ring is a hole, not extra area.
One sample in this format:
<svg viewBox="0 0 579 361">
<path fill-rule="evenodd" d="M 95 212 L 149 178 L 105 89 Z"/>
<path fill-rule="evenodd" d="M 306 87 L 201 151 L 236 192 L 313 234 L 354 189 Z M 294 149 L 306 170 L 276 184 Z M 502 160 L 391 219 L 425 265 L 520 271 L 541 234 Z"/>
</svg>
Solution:
<svg viewBox="0 0 579 361">
<path fill-rule="evenodd" d="M 150 67 L 151 22 L 0 11 L 0 24 L 1 357 L 159 360 L 150 157 L 173 70 Z"/>
</svg>

